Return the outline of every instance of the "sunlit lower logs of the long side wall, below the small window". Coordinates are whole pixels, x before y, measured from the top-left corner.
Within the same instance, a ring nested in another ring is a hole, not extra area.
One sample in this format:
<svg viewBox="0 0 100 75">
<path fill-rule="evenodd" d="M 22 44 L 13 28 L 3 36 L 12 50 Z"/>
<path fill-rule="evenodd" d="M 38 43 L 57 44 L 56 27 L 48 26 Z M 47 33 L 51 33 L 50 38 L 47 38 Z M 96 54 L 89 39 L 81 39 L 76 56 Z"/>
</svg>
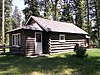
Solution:
<svg viewBox="0 0 100 75">
<path fill-rule="evenodd" d="M 77 40 L 65 40 L 65 42 L 59 42 L 59 40 L 51 40 L 51 50 L 67 50 L 73 49 L 78 43 L 79 45 L 85 46 L 84 39 L 77 39 Z"/>
</svg>

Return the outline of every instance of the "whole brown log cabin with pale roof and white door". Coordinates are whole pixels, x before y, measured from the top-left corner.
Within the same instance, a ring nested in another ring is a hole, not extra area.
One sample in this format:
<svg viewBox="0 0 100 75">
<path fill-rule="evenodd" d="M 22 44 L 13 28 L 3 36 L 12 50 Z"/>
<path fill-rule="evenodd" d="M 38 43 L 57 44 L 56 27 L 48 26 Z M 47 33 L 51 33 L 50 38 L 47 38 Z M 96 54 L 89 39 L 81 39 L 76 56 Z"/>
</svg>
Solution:
<svg viewBox="0 0 100 75">
<path fill-rule="evenodd" d="M 26 25 L 7 32 L 10 53 L 34 55 L 48 51 L 73 49 L 76 43 L 86 46 L 84 30 L 72 23 L 31 16 Z"/>
</svg>

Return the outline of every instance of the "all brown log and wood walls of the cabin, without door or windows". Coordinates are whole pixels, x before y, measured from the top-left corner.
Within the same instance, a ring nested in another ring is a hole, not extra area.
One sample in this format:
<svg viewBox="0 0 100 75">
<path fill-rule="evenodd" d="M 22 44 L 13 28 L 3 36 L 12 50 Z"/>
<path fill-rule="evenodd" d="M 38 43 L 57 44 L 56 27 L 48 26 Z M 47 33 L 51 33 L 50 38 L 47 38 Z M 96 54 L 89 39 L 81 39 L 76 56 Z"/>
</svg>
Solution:
<svg viewBox="0 0 100 75">
<path fill-rule="evenodd" d="M 12 47 L 11 53 L 18 53 L 22 55 L 34 55 L 35 54 L 35 32 L 32 30 L 20 30 L 14 33 L 10 33 L 10 46 L 12 46 L 12 34 L 20 33 L 21 35 L 21 47 Z M 59 41 L 59 35 L 65 34 L 65 42 Z M 42 32 L 42 50 L 43 53 L 48 53 L 49 50 L 68 50 L 73 49 L 76 43 L 85 46 L 85 35 L 71 34 L 71 33 L 57 33 L 57 32 Z"/>
</svg>

